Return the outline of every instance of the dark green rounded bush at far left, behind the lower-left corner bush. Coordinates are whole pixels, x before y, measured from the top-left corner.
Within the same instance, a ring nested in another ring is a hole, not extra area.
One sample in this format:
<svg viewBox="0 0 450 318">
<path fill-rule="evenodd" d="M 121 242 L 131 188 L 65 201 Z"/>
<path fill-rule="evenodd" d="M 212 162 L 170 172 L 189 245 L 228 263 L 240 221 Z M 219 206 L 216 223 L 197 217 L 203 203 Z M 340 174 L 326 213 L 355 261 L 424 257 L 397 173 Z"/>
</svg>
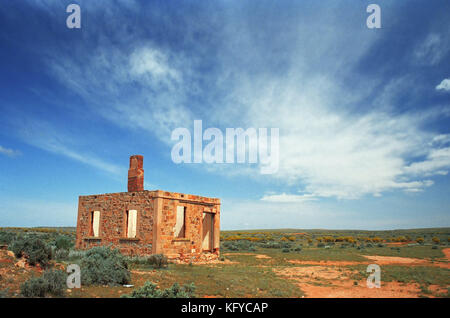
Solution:
<svg viewBox="0 0 450 318">
<path fill-rule="evenodd" d="M 17 258 L 24 256 L 30 265 L 40 264 L 46 267 L 52 257 L 51 248 L 35 236 L 16 238 L 11 243 L 10 249 Z"/>
</svg>

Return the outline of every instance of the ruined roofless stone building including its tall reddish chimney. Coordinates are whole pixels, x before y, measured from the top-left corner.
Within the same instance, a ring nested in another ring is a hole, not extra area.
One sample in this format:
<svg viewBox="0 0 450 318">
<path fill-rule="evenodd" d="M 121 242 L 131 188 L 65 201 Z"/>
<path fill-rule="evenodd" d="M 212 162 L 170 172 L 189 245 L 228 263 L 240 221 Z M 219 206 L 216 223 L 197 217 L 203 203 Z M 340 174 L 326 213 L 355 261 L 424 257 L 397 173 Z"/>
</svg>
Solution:
<svg viewBox="0 0 450 318">
<path fill-rule="evenodd" d="M 198 261 L 219 255 L 220 200 L 144 190 L 143 156 L 130 157 L 128 192 L 80 196 L 76 248 Z"/>
</svg>

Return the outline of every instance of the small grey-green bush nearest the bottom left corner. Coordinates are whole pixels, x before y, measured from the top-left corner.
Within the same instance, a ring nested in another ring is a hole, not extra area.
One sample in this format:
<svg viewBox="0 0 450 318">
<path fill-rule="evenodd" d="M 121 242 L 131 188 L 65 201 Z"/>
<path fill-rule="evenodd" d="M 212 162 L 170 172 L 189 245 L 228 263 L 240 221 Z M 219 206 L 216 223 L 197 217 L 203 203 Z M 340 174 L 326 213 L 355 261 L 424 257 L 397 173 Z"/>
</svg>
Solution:
<svg viewBox="0 0 450 318">
<path fill-rule="evenodd" d="M 47 270 L 40 277 L 32 277 L 20 286 L 24 297 L 63 296 L 66 274 L 61 270 Z"/>
</svg>

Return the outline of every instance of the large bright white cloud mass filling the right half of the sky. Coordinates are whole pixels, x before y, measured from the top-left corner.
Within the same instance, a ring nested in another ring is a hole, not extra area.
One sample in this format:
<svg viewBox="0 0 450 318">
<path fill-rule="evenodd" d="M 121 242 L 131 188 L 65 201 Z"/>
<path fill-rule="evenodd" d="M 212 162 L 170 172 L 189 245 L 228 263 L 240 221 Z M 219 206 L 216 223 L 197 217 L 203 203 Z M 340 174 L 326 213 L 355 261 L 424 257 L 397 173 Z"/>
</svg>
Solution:
<svg viewBox="0 0 450 318">
<path fill-rule="evenodd" d="M 316 198 L 355 199 L 391 190 L 420 191 L 430 186 L 422 178 L 450 169 L 447 150 L 436 148 L 446 137 L 420 128 L 426 114 L 347 112 L 334 102 L 340 94 L 331 78 L 305 78 L 267 81 L 263 89 L 241 83 L 235 92 L 249 105 L 242 120 L 246 125 L 280 128 L 280 165 L 272 176 L 277 182 L 299 185 L 298 190 Z M 408 159 L 420 157 L 425 159 Z M 265 199 L 300 198 L 279 194 Z"/>
</svg>

